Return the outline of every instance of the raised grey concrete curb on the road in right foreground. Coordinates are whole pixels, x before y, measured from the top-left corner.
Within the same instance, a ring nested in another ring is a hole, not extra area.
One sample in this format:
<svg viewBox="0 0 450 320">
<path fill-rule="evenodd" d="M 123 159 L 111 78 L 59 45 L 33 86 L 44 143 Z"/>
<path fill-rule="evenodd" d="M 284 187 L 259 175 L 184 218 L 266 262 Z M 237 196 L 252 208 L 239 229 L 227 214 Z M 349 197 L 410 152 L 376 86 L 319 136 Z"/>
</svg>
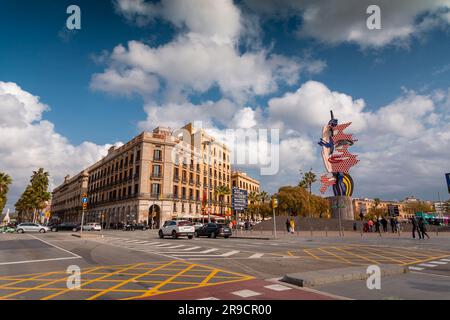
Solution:
<svg viewBox="0 0 450 320">
<path fill-rule="evenodd" d="M 378 266 L 380 267 L 381 276 L 397 275 L 409 271 L 406 266 L 399 266 L 395 264 L 381 264 Z M 367 272 L 367 267 L 368 265 L 290 273 L 286 274 L 281 281 L 294 284 L 299 287 L 315 287 L 342 281 L 366 280 L 371 275 L 371 273 L 369 274 Z"/>
</svg>

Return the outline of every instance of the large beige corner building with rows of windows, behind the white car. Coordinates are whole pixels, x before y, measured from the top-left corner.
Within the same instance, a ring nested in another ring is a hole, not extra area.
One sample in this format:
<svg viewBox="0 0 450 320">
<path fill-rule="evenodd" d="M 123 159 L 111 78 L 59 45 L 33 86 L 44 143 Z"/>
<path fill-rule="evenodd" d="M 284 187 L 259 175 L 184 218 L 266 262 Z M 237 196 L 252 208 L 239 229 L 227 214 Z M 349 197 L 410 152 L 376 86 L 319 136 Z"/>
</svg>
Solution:
<svg viewBox="0 0 450 320">
<path fill-rule="evenodd" d="M 85 171 L 86 221 L 107 228 L 127 222 L 159 227 L 166 220 L 204 219 L 208 213 L 214 218 L 221 205 L 222 212 L 230 206 L 231 195 L 219 202 L 215 192 L 219 185 L 231 186 L 230 151 L 192 124 L 143 132 L 111 147 Z M 53 197 L 59 201 L 59 193 Z"/>
</svg>

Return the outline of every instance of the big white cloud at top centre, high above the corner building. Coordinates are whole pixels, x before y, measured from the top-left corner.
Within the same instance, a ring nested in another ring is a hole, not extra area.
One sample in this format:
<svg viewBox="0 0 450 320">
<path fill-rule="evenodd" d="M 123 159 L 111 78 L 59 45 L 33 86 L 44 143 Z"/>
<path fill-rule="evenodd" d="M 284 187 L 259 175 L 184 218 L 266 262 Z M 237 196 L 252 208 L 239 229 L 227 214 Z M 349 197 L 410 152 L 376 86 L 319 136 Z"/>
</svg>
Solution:
<svg viewBox="0 0 450 320">
<path fill-rule="evenodd" d="M 168 102 L 184 102 L 190 94 L 215 87 L 225 98 L 244 102 L 275 92 L 279 83 L 295 84 L 302 72 L 318 73 L 325 67 L 323 61 L 288 58 L 258 46 L 242 50 L 245 35 L 254 34 L 231 0 L 163 0 L 158 4 L 121 0 L 116 1 L 116 8 L 134 20 L 135 15 L 167 20 L 179 33 L 158 47 L 139 41 L 116 46 L 107 69 L 92 77 L 91 87 L 96 90 L 123 94 L 148 88 L 145 93 L 149 93 L 157 89 L 157 78 L 164 84 Z M 129 70 L 139 72 L 139 80 Z M 151 83 L 142 88 L 147 77 Z"/>
</svg>

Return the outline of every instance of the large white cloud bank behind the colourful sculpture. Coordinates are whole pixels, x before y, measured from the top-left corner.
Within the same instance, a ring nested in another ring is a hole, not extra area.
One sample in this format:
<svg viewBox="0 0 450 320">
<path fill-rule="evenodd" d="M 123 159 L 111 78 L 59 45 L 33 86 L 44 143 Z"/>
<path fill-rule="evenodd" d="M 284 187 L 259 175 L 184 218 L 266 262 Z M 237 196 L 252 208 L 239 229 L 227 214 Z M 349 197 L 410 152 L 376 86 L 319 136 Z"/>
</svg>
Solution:
<svg viewBox="0 0 450 320">
<path fill-rule="evenodd" d="M 443 175 L 450 159 L 450 110 L 443 107 L 450 94 L 442 94 L 405 91 L 388 105 L 370 111 L 363 100 L 310 81 L 294 93 L 271 99 L 269 121 L 285 133 L 307 136 L 314 142 L 333 109 L 341 123 L 353 121 L 347 131 L 358 139 L 352 150 L 361 161 L 351 171 L 356 195 L 392 198 L 393 194 L 415 193 L 435 198 L 437 191 L 444 188 Z M 312 152 L 318 155 L 319 151 L 317 146 Z M 288 157 L 292 154 L 288 153 Z M 319 158 L 309 163 L 322 172 Z M 298 169 L 305 169 L 289 162 L 283 166 L 291 168 L 293 182 Z"/>
</svg>

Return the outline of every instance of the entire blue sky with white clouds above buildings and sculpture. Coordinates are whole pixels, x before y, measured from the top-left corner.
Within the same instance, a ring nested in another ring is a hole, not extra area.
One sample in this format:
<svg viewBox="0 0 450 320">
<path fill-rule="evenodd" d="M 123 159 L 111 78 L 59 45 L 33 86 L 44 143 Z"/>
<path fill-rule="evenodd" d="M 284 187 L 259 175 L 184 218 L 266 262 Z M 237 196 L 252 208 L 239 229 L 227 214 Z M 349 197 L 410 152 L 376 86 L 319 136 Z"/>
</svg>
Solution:
<svg viewBox="0 0 450 320">
<path fill-rule="evenodd" d="M 243 167 L 273 192 L 323 172 L 330 109 L 358 139 L 354 196 L 448 198 L 450 0 L 6 0 L 0 39 L 10 208 L 38 167 L 55 186 L 111 144 L 191 121 L 279 129 L 279 172 Z"/>
</svg>

